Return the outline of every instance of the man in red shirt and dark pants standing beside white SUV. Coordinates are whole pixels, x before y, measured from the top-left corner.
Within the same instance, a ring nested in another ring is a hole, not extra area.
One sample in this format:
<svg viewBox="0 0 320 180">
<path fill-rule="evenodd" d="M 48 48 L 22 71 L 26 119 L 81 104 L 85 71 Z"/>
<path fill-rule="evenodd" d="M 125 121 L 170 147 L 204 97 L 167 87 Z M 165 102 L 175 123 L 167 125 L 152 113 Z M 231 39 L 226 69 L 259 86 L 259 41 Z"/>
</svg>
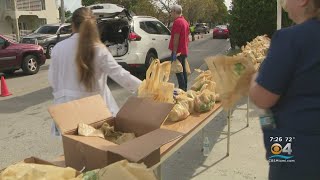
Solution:
<svg viewBox="0 0 320 180">
<path fill-rule="evenodd" d="M 182 7 L 173 5 L 171 16 L 174 18 L 169 49 L 172 51 L 171 61 L 179 60 L 183 66 L 183 72 L 177 73 L 179 88 L 187 91 L 188 77 L 186 72 L 186 58 L 188 56 L 189 45 L 189 23 L 182 16 Z M 179 54 L 179 56 L 177 56 Z"/>
</svg>

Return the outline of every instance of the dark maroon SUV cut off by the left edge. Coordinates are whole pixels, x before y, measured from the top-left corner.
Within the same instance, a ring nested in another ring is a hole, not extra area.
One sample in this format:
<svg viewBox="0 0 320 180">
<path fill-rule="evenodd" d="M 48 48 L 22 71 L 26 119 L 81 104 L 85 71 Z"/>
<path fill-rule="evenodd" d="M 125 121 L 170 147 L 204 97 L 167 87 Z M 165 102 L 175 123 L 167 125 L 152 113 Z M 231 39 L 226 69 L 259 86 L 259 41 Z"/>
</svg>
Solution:
<svg viewBox="0 0 320 180">
<path fill-rule="evenodd" d="M 41 46 L 19 44 L 0 35 L 0 72 L 11 74 L 22 69 L 26 74 L 36 74 L 45 62 Z"/>
</svg>

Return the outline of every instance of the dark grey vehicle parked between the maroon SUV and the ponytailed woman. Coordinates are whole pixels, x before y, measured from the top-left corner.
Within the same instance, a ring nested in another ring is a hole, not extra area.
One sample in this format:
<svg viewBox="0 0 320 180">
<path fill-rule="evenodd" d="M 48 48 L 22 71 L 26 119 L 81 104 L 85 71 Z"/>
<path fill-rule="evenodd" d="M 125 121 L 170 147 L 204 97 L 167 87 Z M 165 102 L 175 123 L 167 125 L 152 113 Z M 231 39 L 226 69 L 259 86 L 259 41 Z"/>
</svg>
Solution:
<svg viewBox="0 0 320 180">
<path fill-rule="evenodd" d="M 21 38 L 21 43 L 38 44 L 43 47 L 47 58 L 58 42 L 67 39 L 72 34 L 71 24 L 47 24 L 39 27 L 32 34 Z"/>
</svg>

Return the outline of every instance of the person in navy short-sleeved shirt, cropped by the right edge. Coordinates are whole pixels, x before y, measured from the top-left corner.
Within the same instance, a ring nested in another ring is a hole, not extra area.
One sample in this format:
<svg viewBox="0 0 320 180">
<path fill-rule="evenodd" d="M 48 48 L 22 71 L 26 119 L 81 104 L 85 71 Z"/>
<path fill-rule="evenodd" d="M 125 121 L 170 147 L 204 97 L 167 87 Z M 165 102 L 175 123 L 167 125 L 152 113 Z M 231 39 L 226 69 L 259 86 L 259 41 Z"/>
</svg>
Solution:
<svg viewBox="0 0 320 180">
<path fill-rule="evenodd" d="M 251 100 L 260 117 L 269 179 L 320 179 L 320 0 L 284 0 L 295 26 L 277 31 Z"/>
</svg>

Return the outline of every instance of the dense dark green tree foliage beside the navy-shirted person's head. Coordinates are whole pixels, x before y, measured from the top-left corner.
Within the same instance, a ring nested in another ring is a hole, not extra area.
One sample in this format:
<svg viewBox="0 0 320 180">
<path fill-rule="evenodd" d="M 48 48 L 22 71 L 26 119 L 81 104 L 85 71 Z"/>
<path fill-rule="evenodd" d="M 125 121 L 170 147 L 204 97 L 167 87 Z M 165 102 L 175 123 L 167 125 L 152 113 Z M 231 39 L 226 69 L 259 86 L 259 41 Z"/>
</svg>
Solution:
<svg viewBox="0 0 320 180">
<path fill-rule="evenodd" d="M 284 14 L 284 25 L 290 25 Z M 233 0 L 230 11 L 231 44 L 243 46 L 259 35 L 269 37 L 276 31 L 277 1 Z"/>
</svg>

